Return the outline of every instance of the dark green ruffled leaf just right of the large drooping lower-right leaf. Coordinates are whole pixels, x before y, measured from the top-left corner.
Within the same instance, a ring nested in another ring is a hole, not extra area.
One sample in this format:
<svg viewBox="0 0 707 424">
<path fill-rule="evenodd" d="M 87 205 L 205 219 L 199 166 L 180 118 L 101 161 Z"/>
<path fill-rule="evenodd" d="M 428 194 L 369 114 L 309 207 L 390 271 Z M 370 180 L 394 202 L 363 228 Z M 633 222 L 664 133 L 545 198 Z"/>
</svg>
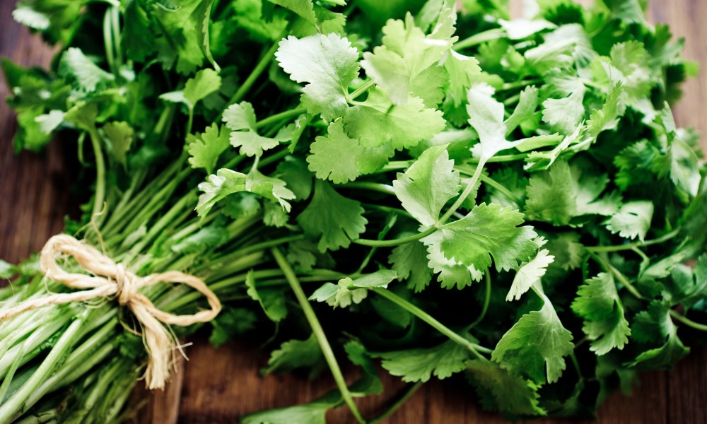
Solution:
<svg viewBox="0 0 707 424">
<path fill-rule="evenodd" d="M 597 355 L 606 355 L 614 348 L 621 350 L 629 343 L 631 330 L 612 274 L 600 273 L 585 281 L 572 310 L 584 318 L 583 331 L 592 341 L 590 350 Z"/>
</svg>

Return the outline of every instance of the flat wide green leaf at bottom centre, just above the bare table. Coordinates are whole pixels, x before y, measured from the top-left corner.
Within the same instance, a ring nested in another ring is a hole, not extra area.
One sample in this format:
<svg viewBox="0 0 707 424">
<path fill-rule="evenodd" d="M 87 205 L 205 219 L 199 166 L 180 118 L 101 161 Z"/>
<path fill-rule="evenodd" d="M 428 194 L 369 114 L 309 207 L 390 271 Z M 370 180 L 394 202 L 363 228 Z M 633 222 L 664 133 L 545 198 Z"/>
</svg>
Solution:
<svg viewBox="0 0 707 424">
<path fill-rule="evenodd" d="M 432 375 L 438 379 L 451 377 L 466 369 L 471 353 L 453 341 L 433 348 L 380 353 L 380 365 L 404 382 L 427 382 Z"/>
</svg>

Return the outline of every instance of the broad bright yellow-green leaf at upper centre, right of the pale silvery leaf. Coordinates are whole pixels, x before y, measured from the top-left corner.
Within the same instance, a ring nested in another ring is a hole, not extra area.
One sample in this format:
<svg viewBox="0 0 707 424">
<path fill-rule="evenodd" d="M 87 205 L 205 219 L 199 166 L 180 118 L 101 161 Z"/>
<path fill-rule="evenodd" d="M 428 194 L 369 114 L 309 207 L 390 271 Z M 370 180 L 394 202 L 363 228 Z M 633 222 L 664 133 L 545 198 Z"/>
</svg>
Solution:
<svg viewBox="0 0 707 424">
<path fill-rule="evenodd" d="M 365 102 L 346 110 L 344 129 L 365 147 L 403 150 L 431 139 L 445 127 L 442 112 L 426 109 L 420 98 L 392 105 L 382 91 L 372 88 Z"/>
</svg>

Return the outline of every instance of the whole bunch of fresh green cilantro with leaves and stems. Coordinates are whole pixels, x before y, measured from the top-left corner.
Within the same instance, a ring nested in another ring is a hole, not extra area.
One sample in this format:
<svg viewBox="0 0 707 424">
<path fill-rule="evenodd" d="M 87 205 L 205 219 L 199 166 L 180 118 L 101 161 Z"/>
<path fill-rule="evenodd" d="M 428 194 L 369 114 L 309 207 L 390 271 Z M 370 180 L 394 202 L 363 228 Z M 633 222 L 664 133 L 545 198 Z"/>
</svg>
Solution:
<svg viewBox="0 0 707 424">
<path fill-rule="evenodd" d="M 16 146 L 76 139 L 88 203 L 67 232 L 205 278 L 228 305 L 216 345 L 333 375 L 244 423 L 344 404 L 378 422 L 399 403 L 355 402 L 378 365 L 403 396 L 458 378 L 509 418 L 592 416 L 707 330 L 707 168 L 670 111 L 696 66 L 641 1 L 531 3 L 20 1 L 62 50 L 51 71 L 4 62 Z M 31 261 L 2 271 L 21 288 L 2 300 L 62 290 Z M 0 421 L 124 417 L 131 322 L 109 301 L 0 324 Z"/>
</svg>

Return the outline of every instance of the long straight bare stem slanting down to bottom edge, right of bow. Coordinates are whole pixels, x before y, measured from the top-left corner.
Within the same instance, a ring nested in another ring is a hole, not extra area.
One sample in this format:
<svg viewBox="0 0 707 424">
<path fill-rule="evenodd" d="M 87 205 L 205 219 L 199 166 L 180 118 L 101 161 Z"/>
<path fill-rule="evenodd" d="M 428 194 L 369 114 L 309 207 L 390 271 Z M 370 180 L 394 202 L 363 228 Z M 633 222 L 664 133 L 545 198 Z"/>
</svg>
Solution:
<svg viewBox="0 0 707 424">
<path fill-rule="evenodd" d="M 295 271 L 293 271 L 287 259 L 285 259 L 282 252 L 280 252 L 280 249 L 273 247 L 271 252 L 272 256 L 275 258 L 275 261 L 280 266 L 280 269 L 282 269 L 282 272 L 285 274 L 285 278 L 287 278 L 287 282 L 290 284 L 292 291 L 295 293 L 295 297 L 297 298 L 300 307 L 302 307 L 302 312 L 304 312 L 305 318 L 312 328 L 312 333 L 315 338 L 317 338 L 317 343 L 319 343 L 320 348 L 322 348 L 322 354 L 324 355 L 325 360 L 327 360 L 329 370 L 332 371 L 332 376 L 334 377 L 334 381 L 337 383 L 337 387 L 339 387 L 339 391 L 341 391 L 341 397 L 344 399 L 344 402 L 346 402 L 346 405 L 349 406 L 349 409 L 351 409 L 351 413 L 356 418 L 356 421 L 362 424 L 366 423 L 366 420 L 364 420 L 363 416 L 361 416 L 361 412 L 358 411 L 358 406 L 356 406 L 356 403 L 354 402 L 354 397 L 351 396 L 349 387 L 346 386 L 346 380 L 344 380 L 344 375 L 341 374 L 341 368 L 339 367 L 339 363 L 337 363 L 337 358 L 334 357 L 332 346 L 329 345 L 327 335 L 325 334 L 324 329 L 322 329 L 322 324 L 320 324 L 319 319 L 317 319 L 317 314 L 315 314 L 312 309 L 312 305 L 310 305 L 309 300 L 307 300 L 307 295 L 305 295 L 302 285 L 300 285 L 300 282 L 297 279 Z"/>
</svg>

